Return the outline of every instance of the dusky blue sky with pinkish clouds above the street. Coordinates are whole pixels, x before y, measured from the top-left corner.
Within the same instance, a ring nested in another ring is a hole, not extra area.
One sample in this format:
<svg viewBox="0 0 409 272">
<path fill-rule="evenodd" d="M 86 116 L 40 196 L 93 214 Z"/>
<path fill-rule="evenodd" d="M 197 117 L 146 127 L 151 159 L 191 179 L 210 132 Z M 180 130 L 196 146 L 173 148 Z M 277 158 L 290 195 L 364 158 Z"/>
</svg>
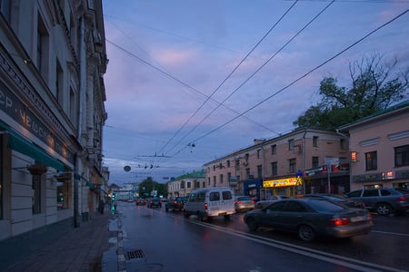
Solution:
<svg viewBox="0 0 409 272">
<path fill-rule="evenodd" d="M 165 183 L 295 129 L 349 64 L 409 68 L 409 0 L 103 0 L 110 183 Z M 409 98 L 409 94 L 406 93 Z M 126 167 L 126 168 L 125 168 Z"/>
</svg>

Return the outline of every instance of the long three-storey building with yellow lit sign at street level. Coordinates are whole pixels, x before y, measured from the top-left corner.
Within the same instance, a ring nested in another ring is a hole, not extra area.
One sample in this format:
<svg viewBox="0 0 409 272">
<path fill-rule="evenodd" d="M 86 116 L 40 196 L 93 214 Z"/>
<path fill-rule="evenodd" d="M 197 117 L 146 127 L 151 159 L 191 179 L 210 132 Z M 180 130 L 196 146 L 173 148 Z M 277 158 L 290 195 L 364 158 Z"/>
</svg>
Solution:
<svg viewBox="0 0 409 272">
<path fill-rule="evenodd" d="M 298 129 L 205 164 L 206 186 L 264 199 L 349 190 L 348 142 L 335 131 Z M 329 170 L 329 171 L 328 171 Z"/>
</svg>

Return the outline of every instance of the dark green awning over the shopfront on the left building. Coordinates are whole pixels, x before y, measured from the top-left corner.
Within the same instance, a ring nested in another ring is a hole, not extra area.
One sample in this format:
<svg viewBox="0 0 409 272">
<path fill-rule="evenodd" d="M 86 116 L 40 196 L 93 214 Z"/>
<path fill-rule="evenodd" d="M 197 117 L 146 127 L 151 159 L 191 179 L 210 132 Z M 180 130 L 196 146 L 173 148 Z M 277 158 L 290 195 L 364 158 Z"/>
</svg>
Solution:
<svg viewBox="0 0 409 272">
<path fill-rule="evenodd" d="M 40 161 L 46 166 L 52 167 L 59 171 L 64 171 L 63 162 L 49 155 L 45 150 L 35 145 L 35 143 L 27 141 L 25 138 L 20 136 L 17 132 L 9 128 L 3 122 L 0 122 L 0 126 L 8 131 L 8 148 L 25 154 L 37 161 Z"/>
</svg>

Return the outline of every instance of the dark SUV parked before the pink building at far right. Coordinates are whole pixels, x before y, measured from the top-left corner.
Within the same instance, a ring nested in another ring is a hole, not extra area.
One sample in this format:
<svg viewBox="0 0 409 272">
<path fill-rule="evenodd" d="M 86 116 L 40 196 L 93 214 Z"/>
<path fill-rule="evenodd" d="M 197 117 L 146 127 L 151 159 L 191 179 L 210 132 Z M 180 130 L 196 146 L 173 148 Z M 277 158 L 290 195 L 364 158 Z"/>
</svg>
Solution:
<svg viewBox="0 0 409 272">
<path fill-rule="evenodd" d="M 394 188 L 357 189 L 345 194 L 345 197 L 363 201 L 366 209 L 384 216 L 409 209 L 409 193 L 404 194 Z"/>
</svg>

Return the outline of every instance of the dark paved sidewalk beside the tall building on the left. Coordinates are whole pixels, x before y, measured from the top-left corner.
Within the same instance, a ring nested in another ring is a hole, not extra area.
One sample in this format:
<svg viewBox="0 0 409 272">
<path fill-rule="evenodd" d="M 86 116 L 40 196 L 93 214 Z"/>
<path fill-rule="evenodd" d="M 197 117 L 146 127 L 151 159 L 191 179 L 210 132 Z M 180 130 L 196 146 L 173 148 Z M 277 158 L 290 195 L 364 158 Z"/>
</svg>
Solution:
<svg viewBox="0 0 409 272">
<path fill-rule="evenodd" d="M 22 256 L 20 261 L 5 271 L 103 271 L 107 265 L 106 260 L 103 260 L 104 252 L 114 250 L 113 247 L 116 252 L 116 238 L 120 233 L 115 227 L 116 222 L 117 219 L 109 210 L 105 210 L 104 214 L 95 213 L 92 219 L 81 222 L 79 228 L 70 230 L 29 256 Z M 116 254 L 109 262 L 115 262 L 109 264 L 110 267 L 117 267 Z"/>
</svg>

